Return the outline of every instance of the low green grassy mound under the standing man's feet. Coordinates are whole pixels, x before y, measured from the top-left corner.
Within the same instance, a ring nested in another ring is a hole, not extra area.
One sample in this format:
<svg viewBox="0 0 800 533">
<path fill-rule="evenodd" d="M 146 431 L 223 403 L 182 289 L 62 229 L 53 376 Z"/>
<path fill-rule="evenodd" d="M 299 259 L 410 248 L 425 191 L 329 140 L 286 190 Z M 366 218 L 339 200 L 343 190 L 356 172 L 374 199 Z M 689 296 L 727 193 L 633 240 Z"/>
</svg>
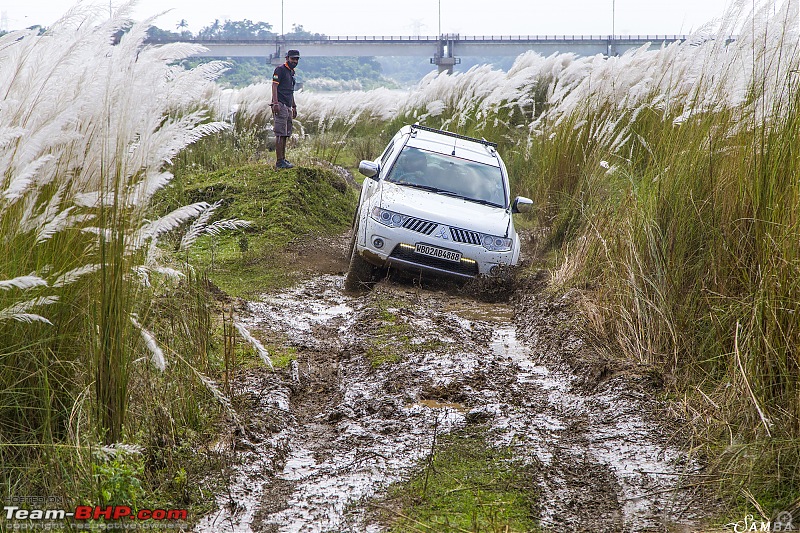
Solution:
<svg viewBox="0 0 800 533">
<path fill-rule="evenodd" d="M 347 231 L 358 194 L 331 170 L 297 167 L 279 172 L 263 163 L 190 174 L 180 181 L 180 202 L 221 202 L 217 218 L 252 223 L 199 239 L 186 257 L 207 269 L 223 291 L 239 297 L 289 282 L 296 274 L 282 268 L 283 252 L 303 247 L 314 236 Z"/>
</svg>

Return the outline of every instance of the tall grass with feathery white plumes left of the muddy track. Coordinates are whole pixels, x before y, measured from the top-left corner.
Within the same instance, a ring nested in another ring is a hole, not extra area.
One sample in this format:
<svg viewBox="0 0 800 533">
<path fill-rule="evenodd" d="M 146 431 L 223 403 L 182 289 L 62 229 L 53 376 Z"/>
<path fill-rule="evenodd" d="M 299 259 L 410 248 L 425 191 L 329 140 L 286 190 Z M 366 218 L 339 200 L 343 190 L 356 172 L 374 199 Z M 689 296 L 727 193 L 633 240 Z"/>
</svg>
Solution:
<svg viewBox="0 0 800 533">
<path fill-rule="evenodd" d="M 8 494 L 48 485 L 18 474 L 38 472 L 37 463 L 86 459 L 64 450 L 130 437 L 138 429 L 126 418 L 131 380 L 147 365 L 158 373 L 176 364 L 151 332 L 149 280 L 175 274 L 159 263 L 157 243 L 211 206 L 154 219 L 153 198 L 180 150 L 226 127 L 203 110 L 222 67 L 175 66 L 195 47 L 145 47 L 149 21 L 130 22 L 129 10 L 95 24 L 96 13 L 76 8 L 42 35 L 0 37 L 0 483 Z M 91 479 L 85 467 L 64 468 Z"/>
</svg>

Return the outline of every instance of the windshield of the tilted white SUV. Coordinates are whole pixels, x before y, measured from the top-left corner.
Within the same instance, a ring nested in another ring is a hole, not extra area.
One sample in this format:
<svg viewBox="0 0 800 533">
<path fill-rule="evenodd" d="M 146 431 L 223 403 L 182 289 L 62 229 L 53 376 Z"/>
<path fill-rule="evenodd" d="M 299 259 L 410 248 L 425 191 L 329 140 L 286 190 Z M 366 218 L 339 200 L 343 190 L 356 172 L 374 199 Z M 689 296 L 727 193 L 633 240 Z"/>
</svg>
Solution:
<svg viewBox="0 0 800 533">
<path fill-rule="evenodd" d="M 406 146 L 386 181 L 472 202 L 506 207 L 499 167 Z"/>
</svg>

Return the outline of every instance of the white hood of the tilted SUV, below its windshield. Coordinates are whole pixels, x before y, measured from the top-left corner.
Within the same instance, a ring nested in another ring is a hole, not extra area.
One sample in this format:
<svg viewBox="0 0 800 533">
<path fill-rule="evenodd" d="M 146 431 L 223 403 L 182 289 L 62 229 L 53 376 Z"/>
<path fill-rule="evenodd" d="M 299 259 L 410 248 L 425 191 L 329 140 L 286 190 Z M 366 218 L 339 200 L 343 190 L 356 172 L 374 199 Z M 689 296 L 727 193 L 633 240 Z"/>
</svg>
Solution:
<svg viewBox="0 0 800 533">
<path fill-rule="evenodd" d="M 511 216 L 502 207 L 492 207 L 460 198 L 403 187 L 381 181 L 380 207 L 455 228 L 499 237 L 508 231 Z"/>
</svg>

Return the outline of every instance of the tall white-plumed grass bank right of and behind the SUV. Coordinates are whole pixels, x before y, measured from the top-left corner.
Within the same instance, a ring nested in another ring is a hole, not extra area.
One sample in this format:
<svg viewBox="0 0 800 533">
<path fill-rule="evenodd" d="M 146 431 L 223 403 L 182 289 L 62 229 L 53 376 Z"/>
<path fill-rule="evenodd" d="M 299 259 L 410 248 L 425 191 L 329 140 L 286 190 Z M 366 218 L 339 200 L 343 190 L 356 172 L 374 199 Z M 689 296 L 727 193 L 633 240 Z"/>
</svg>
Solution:
<svg viewBox="0 0 800 533">
<path fill-rule="evenodd" d="M 797 4 L 735 2 L 620 57 L 528 53 L 298 105 L 351 143 L 415 121 L 499 141 L 612 355 L 664 373 L 723 486 L 782 505 L 800 495 Z"/>
</svg>

